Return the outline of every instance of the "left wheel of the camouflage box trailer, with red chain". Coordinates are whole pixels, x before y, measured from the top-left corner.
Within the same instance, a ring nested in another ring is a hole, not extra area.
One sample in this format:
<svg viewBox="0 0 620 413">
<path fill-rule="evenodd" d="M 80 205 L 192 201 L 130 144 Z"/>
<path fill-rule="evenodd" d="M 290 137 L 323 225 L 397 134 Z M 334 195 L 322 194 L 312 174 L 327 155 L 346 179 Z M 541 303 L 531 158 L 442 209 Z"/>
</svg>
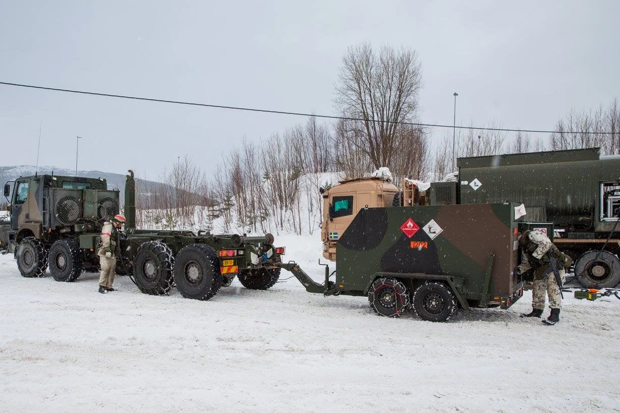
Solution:
<svg viewBox="0 0 620 413">
<path fill-rule="evenodd" d="M 380 316 L 400 317 L 409 306 L 409 290 L 396 278 L 378 278 L 368 290 L 368 302 Z"/>
</svg>

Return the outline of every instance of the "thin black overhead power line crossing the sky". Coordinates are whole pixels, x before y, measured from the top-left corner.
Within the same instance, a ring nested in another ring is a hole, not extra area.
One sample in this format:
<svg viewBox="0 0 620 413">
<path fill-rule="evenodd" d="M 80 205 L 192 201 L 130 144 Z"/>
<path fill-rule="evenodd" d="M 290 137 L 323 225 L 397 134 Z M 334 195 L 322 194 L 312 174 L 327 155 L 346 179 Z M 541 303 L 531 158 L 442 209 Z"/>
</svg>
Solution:
<svg viewBox="0 0 620 413">
<path fill-rule="evenodd" d="M 200 107 L 205 107 L 205 108 L 246 110 L 246 111 L 250 111 L 250 112 L 277 113 L 277 114 L 280 114 L 280 115 L 314 116 L 315 118 L 339 119 L 339 120 L 347 120 L 347 121 L 362 121 L 362 122 L 363 121 L 370 121 L 370 122 L 374 122 L 374 123 L 396 123 L 396 124 L 404 124 L 404 125 L 409 125 L 409 126 L 428 126 L 430 128 L 474 129 L 474 130 L 477 130 L 477 131 L 559 133 L 558 131 L 536 131 L 536 130 L 533 130 L 533 129 L 481 128 L 481 127 L 478 127 L 478 126 L 454 126 L 454 125 L 416 123 L 416 122 L 394 122 L 394 121 L 381 121 L 381 120 L 365 120 L 365 119 L 362 119 L 362 118 L 347 118 L 346 116 L 316 115 L 315 113 L 299 113 L 299 112 L 289 112 L 289 111 L 283 111 L 283 110 L 267 110 L 267 109 L 242 108 L 242 107 L 224 106 L 224 105 L 210 105 L 208 103 L 182 102 L 180 100 L 166 100 L 166 99 L 146 98 L 146 97 L 137 97 L 137 96 L 128 96 L 128 95 L 115 95 L 113 93 L 87 92 L 86 90 L 60 89 L 58 87 L 45 87 L 45 86 L 35 86 L 35 85 L 24 85 L 24 84 L 11 83 L 11 82 L 0 82 L 0 85 L 17 86 L 17 87 L 28 87 L 30 89 L 53 90 L 54 92 L 80 93 L 81 95 L 105 96 L 105 97 L 115 97 L 115 98 L 122 98 L 122 99 L 132 99 L 132 100 L 146 100 L 147 102 L 174 103 L 175 105 L 190 105 L 190 106 L 200 106 Z M 569 131 L 565 131 L 565 133 L 570 133 L 570 134 L 592 134 L 592 135 L 611 134 L 611 132 L 569 132 Z"/>
</svg>

